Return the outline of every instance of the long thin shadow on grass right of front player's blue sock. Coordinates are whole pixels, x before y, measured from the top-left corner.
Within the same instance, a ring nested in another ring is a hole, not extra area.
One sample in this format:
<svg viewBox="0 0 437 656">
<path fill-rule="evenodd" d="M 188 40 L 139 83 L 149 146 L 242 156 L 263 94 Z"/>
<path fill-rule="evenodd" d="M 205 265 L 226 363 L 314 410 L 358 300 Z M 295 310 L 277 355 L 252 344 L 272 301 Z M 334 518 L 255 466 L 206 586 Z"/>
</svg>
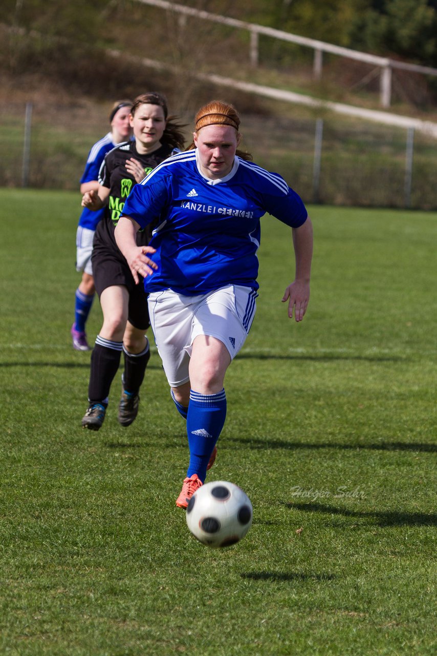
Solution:
<svg viewBox="0 0 437 656">
<path fill-rule="evenodd" d="M 341 444 L 336 442 L 288 442 L 286 440 L 244 440 L 243 438 L 226 438 L 227 442 L 238 442 L 245 444 L 250 449 L 374 449 L 375 451 L 427 451 L 428 453 L 436 453 L 437 445 L 431 443 L 409 443 L 409 442 L 381 442 L 370 444 Z"/>
</svg>

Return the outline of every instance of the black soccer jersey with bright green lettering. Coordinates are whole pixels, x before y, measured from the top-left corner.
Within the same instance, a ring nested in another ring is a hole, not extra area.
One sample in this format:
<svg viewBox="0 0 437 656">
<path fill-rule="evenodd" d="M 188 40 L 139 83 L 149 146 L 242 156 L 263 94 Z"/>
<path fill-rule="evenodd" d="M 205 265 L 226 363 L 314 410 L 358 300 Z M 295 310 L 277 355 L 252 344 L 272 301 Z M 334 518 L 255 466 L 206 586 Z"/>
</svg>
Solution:
<svg viewBox="0 0 437 656">
<path fill-rule="evenodd" d="M 136 150 L 134 140 L 119 144 L 107 153 L 100 167 L 99 182 L 110 190 L 109 200 L 105 216 L 97 226 L 94 245 L 100 243 L 105 247 L 115 247 L 117 251 L 119 250 L 114 236 L 115 226 L 123 211 L 126 198 L 136 184 L 136 180 L 126 169 L 126 161 L 131 157 L 138 159 L 143 165 L 144 175 L 147 175 L 171 154 L 172 148 L 163 144 L 161 148 L 149 155 L 140 155 Z M 153 225 L 147 226 L 144 230 L 137 232 L 136 243 L 138 246 L 147 246 L 153 227 Z"/>
</svg>

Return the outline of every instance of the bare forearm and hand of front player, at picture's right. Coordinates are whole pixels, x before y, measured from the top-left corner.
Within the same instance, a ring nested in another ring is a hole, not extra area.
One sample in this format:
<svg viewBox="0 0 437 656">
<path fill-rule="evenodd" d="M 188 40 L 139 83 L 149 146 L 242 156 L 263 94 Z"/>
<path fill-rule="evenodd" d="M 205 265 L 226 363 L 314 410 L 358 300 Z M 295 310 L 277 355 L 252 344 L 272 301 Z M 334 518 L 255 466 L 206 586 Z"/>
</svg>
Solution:
<svg viewBox="0 0 437 656">
<path fill-rule="evenodd" d="M 311 260 L 313 259 L 313 224 L 307 220 L 299 228 L 292 228 L 295 278 L 288 285 L 282 297 L 282 302 L 288 300 L 288 316 L 295 321 L 302 321 L 307 312 L 309 302 L 309 281 L 311 276 Z"/>
</svg>

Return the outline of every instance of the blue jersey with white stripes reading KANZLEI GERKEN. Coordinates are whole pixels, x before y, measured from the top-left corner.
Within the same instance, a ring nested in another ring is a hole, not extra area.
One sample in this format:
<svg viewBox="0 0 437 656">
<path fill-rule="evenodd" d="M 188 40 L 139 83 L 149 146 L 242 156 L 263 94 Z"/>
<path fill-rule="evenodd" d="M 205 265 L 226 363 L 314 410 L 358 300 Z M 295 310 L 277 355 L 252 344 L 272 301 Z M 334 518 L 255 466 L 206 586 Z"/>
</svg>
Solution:
<svg viewBox="0 0 437 656">
<path fill-rule="evenodd" d="M 123 208 L 142 228 L 157 221 L 150 245 L 159 268 L 144 279 L 145 291 L 192 296 L 225 285 L 257 289 L 259 219 L 266 212 L 293 228 L 307 219 L 285 180 L 253 162 L 235 157 L 231 173 L 210 180 L 200 173 L 197 150 L 164 160 L 134 186 Z"/>
</svg>

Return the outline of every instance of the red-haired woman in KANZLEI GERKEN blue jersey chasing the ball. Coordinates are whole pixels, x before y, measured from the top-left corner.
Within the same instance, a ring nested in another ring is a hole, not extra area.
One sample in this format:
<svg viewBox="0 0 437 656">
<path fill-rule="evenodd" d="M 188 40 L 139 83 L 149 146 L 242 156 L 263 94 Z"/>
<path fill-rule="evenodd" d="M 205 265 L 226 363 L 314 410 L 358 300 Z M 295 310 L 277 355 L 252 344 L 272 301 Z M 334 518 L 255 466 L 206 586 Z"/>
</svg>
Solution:
<svg viewBox="0 0 437 656">
<path fill-rule="evenodd" d="M 151 326 L 172 398 L 187 420 L 186 508 L 214 462 L 226 417 L 225 373 L 244 344 L 257 297 L 260 222 L 292 228 L 295 278 L 284 292 L 301 321 L 309 301 L 313 229 L 284 179 L 238 152 L 240 119 L 213 101 L 196 115 L 193 150 L 170 157 L 134 187 L 115 238 L 134 279 L 144 278 Z M 157 220 L 147 247 L 135 234 Z"/>
</svg>

